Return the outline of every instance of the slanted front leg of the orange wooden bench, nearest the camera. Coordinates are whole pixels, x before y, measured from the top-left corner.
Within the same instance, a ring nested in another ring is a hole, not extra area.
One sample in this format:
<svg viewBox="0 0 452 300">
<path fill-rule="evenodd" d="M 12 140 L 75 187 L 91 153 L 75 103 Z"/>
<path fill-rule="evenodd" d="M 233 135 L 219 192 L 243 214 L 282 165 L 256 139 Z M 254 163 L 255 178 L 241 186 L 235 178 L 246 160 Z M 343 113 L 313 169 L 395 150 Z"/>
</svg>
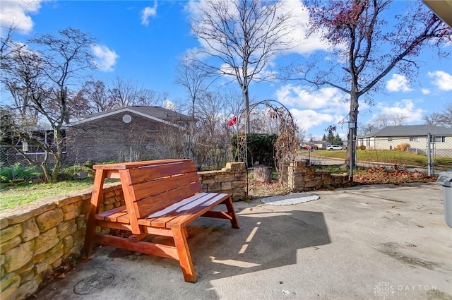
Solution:
<svg viewBox="0 0 452 300">
<path fill-rule="evenodd" d="M 176 246 L 177 254 L 179 256 L 182 273 L 184 274 L 184 280 L 186 282 L 196 282 L 195 268 L 191 261 L 189 244 L 186 241 L 186 228 L 172 228 L 171 231 L 174 237 L 174 245 Z"/>
</svg>

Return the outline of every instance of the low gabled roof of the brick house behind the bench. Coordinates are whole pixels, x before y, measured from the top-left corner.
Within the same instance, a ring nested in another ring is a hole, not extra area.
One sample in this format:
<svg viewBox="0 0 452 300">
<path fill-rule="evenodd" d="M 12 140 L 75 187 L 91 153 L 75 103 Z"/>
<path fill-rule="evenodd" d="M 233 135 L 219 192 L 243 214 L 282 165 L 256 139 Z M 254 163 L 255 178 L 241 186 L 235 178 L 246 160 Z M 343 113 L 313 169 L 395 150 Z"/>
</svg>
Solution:
<svg viewBox="0 0 452 300">
<path fill-rule="evenodd" d="M 90 121 L 95 121 L 97 119 L 102 119 L 107 116 L 113 116 L 115 114 L 138 114 L 139 116 L 144 116 L 145 118 L 152 119 L 154 121 L 158 121 L 167 125 L 181 127 L 176 124 L 177 121 L 191 121 L 190 116 L 186 116 L 185 114 L 179 114 L 178 112 L 174 112 L 169 109 L 165 109 L 163 107 L 148 107 L 148 106 L 133 106 L 133 107 L 123 107 L 119 109 L 111 109 L 105 112 L 99 112 L 97 114 L 89 114 L 87 116 L 83 116 L 83 119 L 80 121 L 76 121 L 70 124 L 70 126 L 83 124 Z"/>
</svg>

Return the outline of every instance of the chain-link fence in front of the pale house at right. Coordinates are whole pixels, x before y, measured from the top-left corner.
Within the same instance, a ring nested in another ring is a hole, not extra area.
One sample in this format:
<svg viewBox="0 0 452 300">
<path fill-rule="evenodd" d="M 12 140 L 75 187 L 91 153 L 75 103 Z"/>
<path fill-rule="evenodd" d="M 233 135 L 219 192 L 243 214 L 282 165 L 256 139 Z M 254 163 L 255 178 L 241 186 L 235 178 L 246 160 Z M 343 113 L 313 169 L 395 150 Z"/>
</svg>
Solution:
<svg viewBox="0 0 452 300">
<path fill-rule="evenodd" d="M 452 136 L 359 138 L 357 164 L 391 164 L 429 175 L 452 169 Z"/>
</svg>

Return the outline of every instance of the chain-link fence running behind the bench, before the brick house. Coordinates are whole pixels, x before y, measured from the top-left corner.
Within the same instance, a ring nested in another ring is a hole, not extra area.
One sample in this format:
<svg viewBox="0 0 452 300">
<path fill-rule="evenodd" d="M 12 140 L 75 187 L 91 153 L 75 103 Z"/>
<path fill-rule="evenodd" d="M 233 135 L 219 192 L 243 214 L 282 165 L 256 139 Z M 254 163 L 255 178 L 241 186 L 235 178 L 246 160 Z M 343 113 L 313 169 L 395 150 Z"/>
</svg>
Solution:
<svg viewBox="0 0 452 300">
<path fill-rule="evenodd" d="M 26 155 L 35 162 L 44 159 L 45 153 L 39 149 L 28 148 Z M 182 143 L 169 145 L 162 143 L 134 145 L 78 145 L 76 151 L 64 151 L 64 178 L 77 178 L 78 171 L 85 171 L 93 164 L 111 162 L 133 162 L 139 160 L 162 160 L 167 158 L 190 158 L 198 169 L 214 170 L 225 167 L 231 162 L 232 147 L 228 143 Z M 49 162 L 52 164 L 52 162 Z M 79 167 L 77 167 L 79 166 Z M 44 176 L 39 166 L 32 166 L 11 146 L 0 146 L 0 182 L 42 182 Z"/>
</svg>

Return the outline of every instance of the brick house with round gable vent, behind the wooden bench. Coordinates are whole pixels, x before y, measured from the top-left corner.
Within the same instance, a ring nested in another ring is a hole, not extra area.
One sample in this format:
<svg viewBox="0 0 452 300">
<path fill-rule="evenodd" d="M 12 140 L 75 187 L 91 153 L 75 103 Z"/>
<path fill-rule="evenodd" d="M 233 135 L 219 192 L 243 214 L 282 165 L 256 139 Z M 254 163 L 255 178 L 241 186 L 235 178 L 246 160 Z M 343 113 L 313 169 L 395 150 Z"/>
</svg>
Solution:
<svg viewBox="0 0 452 300">
<path fill-rule="evenodd" d="M 90 114 L 66 128 L 66 162 L 182 157 L 191 121 L 162 107 L 134 106 Z"/>
</svg>

